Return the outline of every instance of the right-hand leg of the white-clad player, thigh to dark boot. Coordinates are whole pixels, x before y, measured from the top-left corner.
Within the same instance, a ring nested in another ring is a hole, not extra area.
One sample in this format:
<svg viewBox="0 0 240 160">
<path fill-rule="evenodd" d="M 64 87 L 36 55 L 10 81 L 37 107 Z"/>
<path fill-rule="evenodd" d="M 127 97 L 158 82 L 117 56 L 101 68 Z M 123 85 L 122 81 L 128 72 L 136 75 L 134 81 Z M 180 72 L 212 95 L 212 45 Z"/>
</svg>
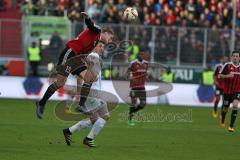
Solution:
<svg viewBox="0 0 240 160">
<path fill-rule="evenodd" d="M 94 138 L 99 135 L 109 117 L 107 104 L 106 102 L 101 101 L 99 109 L 97 109 L 90 117 L 93 126 L 89 134 L 84 138 L 83 144 L 89 147 L 96 147 Z"/>
</svg>

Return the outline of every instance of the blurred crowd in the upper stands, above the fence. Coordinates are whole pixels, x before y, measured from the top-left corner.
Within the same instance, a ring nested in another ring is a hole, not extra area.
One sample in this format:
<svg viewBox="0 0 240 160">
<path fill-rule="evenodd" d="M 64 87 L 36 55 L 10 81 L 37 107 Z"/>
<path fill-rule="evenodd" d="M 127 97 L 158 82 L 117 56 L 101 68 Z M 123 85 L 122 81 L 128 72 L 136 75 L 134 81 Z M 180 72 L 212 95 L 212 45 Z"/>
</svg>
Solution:
<svg viewBox="0 0 240 160">
<path fill-rule="evenodd" d="M 84 0 L 24 0 L 20 3 L 22 14 L 45 15 L 47 12 L 64 16 L 66 12 L 72 21 L 78 21 L 79 13 L 85 8 Z M 85 11 L 100 23 L 120 23 L 127 6 L 138 10 L 144 24 L 231 27 L 233 3 L 230 0 L 88 0 Z M 240 27 L 240 12 L 237 26 Z"/>
</svg>

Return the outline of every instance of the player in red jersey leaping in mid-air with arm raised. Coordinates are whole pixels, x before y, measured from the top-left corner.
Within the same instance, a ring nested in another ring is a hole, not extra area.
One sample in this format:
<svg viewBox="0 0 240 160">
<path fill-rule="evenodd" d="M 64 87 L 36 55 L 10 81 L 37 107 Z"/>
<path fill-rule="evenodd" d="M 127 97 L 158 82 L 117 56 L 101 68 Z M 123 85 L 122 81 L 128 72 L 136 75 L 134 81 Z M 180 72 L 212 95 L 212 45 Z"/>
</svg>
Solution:
<svg viewBox="0 0 240 160">
<path fill-rule="evenodd" d="M 74 40 L 70 40 L 62 51 L 56 68 L 57 80 L 48 87 L 42 99 L 36 102 L 36 114 L 40 119 L 43 117 L 47 100 L 55 91 L 64 86 L 70 73 L 84 80 L 80 91 L 79 106 L 76 108 L 78 111 L 82 111 L 80 106 L 84 106 L 91 85 L 97 79 L 96 75 L 88 70 L 86 56 L 98 42 L 107 44 L 113 39 L 113 32 L 110 29 L 102 29 L 94 24 L 85 12 L 82 12 L 81 15 L 85 19 L 87 28 Z"/>
</svg>

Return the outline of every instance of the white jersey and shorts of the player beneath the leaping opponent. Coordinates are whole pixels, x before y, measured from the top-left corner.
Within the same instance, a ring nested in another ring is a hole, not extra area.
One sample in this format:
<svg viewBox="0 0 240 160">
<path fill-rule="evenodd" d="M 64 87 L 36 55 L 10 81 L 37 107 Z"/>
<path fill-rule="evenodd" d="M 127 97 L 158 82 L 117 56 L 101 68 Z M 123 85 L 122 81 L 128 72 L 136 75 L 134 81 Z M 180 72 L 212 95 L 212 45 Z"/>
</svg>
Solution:
<svg viewBox="0 0 240 160">
<path fill-rule="evenodd" d="M 89 96 L 87 98 L 87 101 L 85 103 L 85 106 L 87 107 L 88 111 L 92 111 L 94 109 L 98 109 L 102 106 L 104 103 L 101 99 L 96 98 L 99 97 L 99 94 L 101 94 L 101 58 L 97 53 L 90 53 L 87 56 L 87 59 L 91 62 L 93 62 L 92 68 L 90 68 L 95 74 L 98 75 L 98 80 L 96 82 L 93 82 L 91 90 L 94 91 L 93 95 L 94 97 Z M 97 91 L 96 91 L 97 90 Z"/>
</svg>

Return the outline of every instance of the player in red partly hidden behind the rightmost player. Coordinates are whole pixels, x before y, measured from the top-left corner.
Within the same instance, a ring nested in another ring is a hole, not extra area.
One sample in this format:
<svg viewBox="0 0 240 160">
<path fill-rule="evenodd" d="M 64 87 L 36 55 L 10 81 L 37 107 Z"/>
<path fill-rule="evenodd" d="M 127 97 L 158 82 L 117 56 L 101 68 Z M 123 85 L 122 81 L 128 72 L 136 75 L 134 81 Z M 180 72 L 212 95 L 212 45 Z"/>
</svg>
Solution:
<svg viewBox="0 0 240 160">
<path fill-rule="evenodd" d="M 223 80 L 218 78 L 220 71 L 225 63 L 228 62 L 228 56 L 223 56 L 221 58 L 221 63 L 217 64 L 214 71 L 214 82 L 215 82 L 215 102 L 212 111 L 213 118 L 217 118 L 217 107 L 220 101 L 221 95 L 223 94 Z"/>
</svg>

